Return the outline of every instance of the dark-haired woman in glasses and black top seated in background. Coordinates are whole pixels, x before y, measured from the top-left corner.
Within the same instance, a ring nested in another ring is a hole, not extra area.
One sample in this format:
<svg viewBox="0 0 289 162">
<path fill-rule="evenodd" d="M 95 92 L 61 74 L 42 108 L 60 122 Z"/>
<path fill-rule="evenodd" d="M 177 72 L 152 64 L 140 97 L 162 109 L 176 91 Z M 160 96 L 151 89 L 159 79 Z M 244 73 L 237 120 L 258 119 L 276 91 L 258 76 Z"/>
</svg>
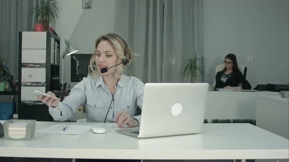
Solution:
<svg viewBox="0 0 289 162">
<path fill-rule="evenodd" d="M 216 75 L 215 89 L 251 89 L 250 83 L 238 68 L 237 58 L 234 54 L 228 54 L 225 57 L 224 64 L 225 68 Z M 242 86 L 239 86 L 240 82 Z"/>
</svg>

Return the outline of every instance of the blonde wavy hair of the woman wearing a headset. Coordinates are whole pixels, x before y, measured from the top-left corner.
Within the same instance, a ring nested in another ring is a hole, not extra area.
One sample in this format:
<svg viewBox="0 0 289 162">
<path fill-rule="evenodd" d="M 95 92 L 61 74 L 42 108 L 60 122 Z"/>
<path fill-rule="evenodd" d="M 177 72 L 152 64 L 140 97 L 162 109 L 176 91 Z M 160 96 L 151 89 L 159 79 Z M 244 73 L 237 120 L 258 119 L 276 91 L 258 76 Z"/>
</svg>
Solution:
<svg viewBox="0 0 289 162">
<path fill-rule="evenodd" d="M 108 41 L 110 43 L 110 45 L 113 47 L 113 49 L 114 49 L 114 51 L 118 57 L 118 63 L 122 62 L 123 59 L 128 60 L 128 62 L 125 65 L 129 65 L 132 62 L 133 54 L 132 54 L 128 44 L 126 43 L 126 41 L 124 41 L 117 34 L 109 33 L 109 34 L 106 34 L 106 35 L 99 37 L 96 40 L 95 53 L 92 56 L 92 58 L 90 59 L 90 63 L 89 63 L 90 72 L 89 72 L 88 76 L 99 75 L 97 68 L 94 68 L 94 66 L 96 66 L 96 48 L 97 48 L 97 45 L 100 41 Z M 116 66 L 116 77 L 119 79 L 121 77 L 123 67 L 124 67 L 123 64 Z"/>
</svg>

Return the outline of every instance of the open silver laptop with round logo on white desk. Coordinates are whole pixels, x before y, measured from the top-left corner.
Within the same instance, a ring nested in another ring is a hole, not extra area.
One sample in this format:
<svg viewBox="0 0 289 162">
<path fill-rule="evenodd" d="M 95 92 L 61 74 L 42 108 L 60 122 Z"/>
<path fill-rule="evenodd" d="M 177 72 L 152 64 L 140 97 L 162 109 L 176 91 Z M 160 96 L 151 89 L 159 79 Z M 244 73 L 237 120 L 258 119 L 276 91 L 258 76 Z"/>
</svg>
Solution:
<svg viewBox="0 0 289 162">
<path fill-rule="evenodd" d="M 139 128 L 118 129 L 137 138 L 200 133 L 208 83 L 146 83 Z"/>
</svg>

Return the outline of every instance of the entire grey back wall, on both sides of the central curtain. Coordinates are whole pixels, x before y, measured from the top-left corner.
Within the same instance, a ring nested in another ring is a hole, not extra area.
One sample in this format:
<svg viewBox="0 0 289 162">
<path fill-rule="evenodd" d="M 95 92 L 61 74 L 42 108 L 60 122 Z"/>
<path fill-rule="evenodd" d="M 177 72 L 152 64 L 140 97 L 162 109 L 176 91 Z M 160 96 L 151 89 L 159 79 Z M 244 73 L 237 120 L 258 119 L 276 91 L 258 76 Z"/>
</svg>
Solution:
<svg viewBox="0 0 289 162">
<path fill-rule="evenodd" d="M 58 1 L 62 12 L 54 26 L 62 39 L 61 51 L 65 38 L 79 49 L 77 53 L 93 53 L 96 38 L 114 32 L 116 0 L 92 0 L 92 9 L 82 9 L 82 0 Z M 288 84 L 288 6 L 288 0 L 203 0 L 205 81 L 212 84 L 215 66 L 234 53 L 239 64 L 248 67 L 252 87 Z M 247 56 L 253 56 L 252 63 L 246 62 Z M 70 59 L 65 59 L 64 68 L 69 83 Z"/>
</svg>

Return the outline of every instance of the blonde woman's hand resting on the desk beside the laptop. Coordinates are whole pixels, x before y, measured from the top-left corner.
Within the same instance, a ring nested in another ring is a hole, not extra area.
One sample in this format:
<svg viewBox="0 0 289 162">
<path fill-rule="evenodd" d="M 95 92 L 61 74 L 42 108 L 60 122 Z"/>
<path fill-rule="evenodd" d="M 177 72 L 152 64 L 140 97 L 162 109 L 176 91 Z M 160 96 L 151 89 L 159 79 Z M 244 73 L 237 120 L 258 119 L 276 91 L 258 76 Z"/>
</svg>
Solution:
<svg viewBox="0 0 289 162">
<path fill-rule="evenodd" d="M 139 121 L 136 119 L 132 118 L 128 112 L 126 111 L 121 111 L 119 112 L 115 117 L 114 121 L 117 122 L 119 128 L 123 128 L 124 125 L 128 125 L 130 127 L 133 126 L 138 126 Z"/>
</svg>

